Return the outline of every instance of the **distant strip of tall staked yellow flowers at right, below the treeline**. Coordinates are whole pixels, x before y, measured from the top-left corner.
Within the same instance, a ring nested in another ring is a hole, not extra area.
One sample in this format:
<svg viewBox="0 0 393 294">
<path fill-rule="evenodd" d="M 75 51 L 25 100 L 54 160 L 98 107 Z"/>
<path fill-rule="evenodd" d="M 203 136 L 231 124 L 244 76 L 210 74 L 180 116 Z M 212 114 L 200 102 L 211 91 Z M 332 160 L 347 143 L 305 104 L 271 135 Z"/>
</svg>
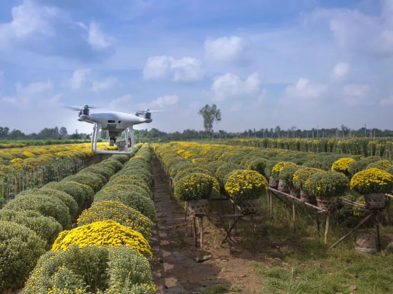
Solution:
<svg viewBox="0 0 393 294">
<path fill-rule="evenodd" d="M 279 148 L 301 152 L 330 152 L 337 154 L 381 156 L 393 159 L 393 141 L 391 139 L 304 139 L 304 138 L 265 138 L 265 139 L 229 139 L 232 146 L 259 148 Z"/>
</svg>

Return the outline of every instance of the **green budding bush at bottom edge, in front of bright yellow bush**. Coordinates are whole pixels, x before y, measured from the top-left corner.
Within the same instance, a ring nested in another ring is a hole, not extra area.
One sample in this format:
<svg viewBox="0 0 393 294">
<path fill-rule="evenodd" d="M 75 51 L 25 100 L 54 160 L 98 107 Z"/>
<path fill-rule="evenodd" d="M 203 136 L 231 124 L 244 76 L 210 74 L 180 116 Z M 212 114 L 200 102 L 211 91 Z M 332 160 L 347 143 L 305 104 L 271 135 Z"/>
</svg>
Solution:
<svg viewBox="0 0 393 294">
<path fill-rule="evenodd" d="M 153 294 L 148 260 L 125 246 L 71 245 L 43 255 L 22 294 Z"/>
</svg>

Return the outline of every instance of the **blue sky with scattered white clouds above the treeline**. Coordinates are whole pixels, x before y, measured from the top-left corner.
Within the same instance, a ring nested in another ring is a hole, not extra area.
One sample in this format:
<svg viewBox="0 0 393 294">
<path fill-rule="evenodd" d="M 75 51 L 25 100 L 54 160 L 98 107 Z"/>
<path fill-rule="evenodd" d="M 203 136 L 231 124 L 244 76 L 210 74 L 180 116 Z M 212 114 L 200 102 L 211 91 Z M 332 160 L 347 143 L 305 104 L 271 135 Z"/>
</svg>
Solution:
<svg viewBox="0 0 393 294">
<path fill-rule="evenodd" d="M 393 129 L 392 78 L 393 0 L 0 1 L 0 126 L 25 133 L 91 132 L 61 107 L 84 104 L 166 132 L 213 103 L 215 130 Z"/>
</svg>

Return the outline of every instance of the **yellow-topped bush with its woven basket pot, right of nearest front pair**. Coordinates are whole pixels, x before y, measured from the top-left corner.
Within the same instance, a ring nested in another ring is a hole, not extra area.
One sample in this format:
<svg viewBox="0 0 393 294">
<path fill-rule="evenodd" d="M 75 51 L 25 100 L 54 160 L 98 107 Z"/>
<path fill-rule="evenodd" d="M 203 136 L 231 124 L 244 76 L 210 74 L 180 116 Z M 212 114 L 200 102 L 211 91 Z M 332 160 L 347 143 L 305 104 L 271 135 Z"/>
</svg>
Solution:
<svg viewBox="0 0 393 294">
<path fill-rule="evenodd" d="M 263 175 L 250 170 L 232 172 L 225 183 L 225 191 L 229 197 L 249 213 L 259 211 L 259 198 L 268 187 Z"/>
</svg>

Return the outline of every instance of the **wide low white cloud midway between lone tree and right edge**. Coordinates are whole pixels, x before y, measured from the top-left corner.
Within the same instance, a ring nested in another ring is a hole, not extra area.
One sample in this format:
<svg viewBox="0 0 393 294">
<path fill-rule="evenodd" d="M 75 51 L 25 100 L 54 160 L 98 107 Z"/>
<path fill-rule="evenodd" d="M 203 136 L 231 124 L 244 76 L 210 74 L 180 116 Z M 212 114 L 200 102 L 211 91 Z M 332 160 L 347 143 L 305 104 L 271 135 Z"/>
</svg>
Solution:
<svg viewBox="0 0 393 294">
<path fill-rule="evenodd" d="M 328 90 L 328 86 L 321 83 L 311 83 L 308 78 L 301 77 L 294 85 L 285 88 L 287 98 L 300 100 L 315 100 L 322 97 Z"/>
</svg>

